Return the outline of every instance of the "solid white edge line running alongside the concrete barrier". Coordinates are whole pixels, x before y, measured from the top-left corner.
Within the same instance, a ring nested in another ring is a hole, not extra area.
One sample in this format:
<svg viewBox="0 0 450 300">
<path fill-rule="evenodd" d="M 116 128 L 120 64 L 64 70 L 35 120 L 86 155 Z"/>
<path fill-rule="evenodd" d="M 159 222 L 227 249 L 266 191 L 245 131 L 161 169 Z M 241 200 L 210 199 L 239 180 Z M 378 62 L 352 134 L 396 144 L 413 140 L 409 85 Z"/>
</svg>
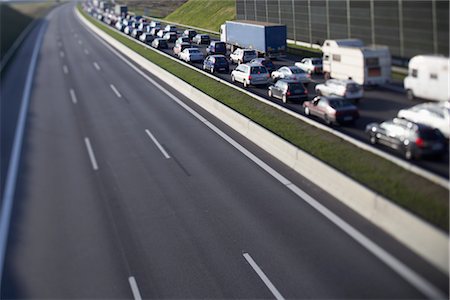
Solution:
<svg viewBox="0 0 450 300">
<path fill-rule="evenodd" d="M 191 113 L 198 120 L 203 122 L 211 130 L 213 130 L 215 133 L 217 133 L 219 136 L 221 136 L 224 140 L 226 140 L 228 143 L 230 143 L 233 147 L 235 147 L 237 150 L 239 150 L 242 154 L 247 156 L 250 160 L 252 160 L 258 166 L 260 166 L 262 169 L 264 169 L 267 173 L 272 175 L 275 179 L 277 179 L 282 184 L 286 185 L 297 196 L 299 196 L 301 199 L 303 199 L 309 205 L 314 207 L 319 213 L 321 213 L 329 221 L 334 223 L 337 227 L 339 227 L 341 230 L 343 230 L 351 238 L 353 238 L 355 241 L 357 241 L 363 248 L 365 248 L 367 251 L 369 251 L 374 256 L 379 258 L 383 263 L 385 263 L 389 268 L 391 268 L 394 272 L 396 272 L 404 280 L 409 282 L 412 286 L 414 286 L 421 293 L 423 293 L 424 295 L 426 295 L 427 297 L 429 297 L 431 299 L 446 299 L 447 298 L 447 296 L 443 292 L 441 292 L 437 287 L 435 287 L 433 284 L 431 284 L 428 280 L 426 280 L 420 274 L 416 273 L 414 270 L 412 270 L 411 268 L 406 266 L 404 263 L 402 263 L 400 260 L 398 260 L 397 258 L 392 256 L 390 253 L 388 253 L 386 250 L 382 249 L 380 246 L 378 246 L 377 244 L 372 242 L 369 238 L 367 238 L 365 235 L 363 235 L 357 229 L 355 229 L 350 224 L 348 224 L 343 219 L 341 219 L 338 215 L 336 215 L 335 213 L 331 212 L 329 209 L 324 207 L 322 204 L 320 204 L 317 200 L 315 200 L 314 198 L 309 196 L 306 192 L 301 190 L 299 187 L 297 187 L 296 185 L 291 183 L 283 175 L 279 174 L 277 171 L 272 169 L 265 162 L 263 162 L 262 160 L 257 158 L 254 154 L 249 152 L 247 149 L 245 149 L 243 146 L 241 146 L 239 143 L 237 143 L 231 137 L 229 137 L 224 132 L 222 132 L 219 128 L 217 128 L 216 126 L 211 124 L 208 120 L 206 120 L 204 117 L 202 117 L 195 110 L 190 108 L 183 101 L 181 101 L 176 96 L 174 96 L 172 93 L 170 93 L 168 90 L 166 90 L 163 86 L 161 86 L 155 80 L 150 78 L 147 74 L 145 74 L 143 71 L 141 71 L 139 68 L 137 68 L 134 64 L 132 64 L 126 58 L 124 58 L 122 54 L 119 54 L 107 42 L 103 41 L 94 32 L 92 32 L 92 30 L 89 29 L 87 27 L 87 25 L 83 24 L 83 26 L 88 29 L 88 31 L 92 34 L 92 36 L 94 36 L 97 40 L 99 40 L 111 52 L 113 52 L 123 62 L 125 62 L 127 65 L 129 65 L 133 70 L 135 70 L 142 77 L 147 79 L 147 81 L 149 81 L 151 84 L 156 86 L 159 90 L 161 90 L 163 93 L 165 93 L 168 97 L 172 98 L 172 100 L 174 100 L 176 103 L 178 103 L 181 107 L 183 107 L 185 110 L 187 110 L 189 113 Z"/>
</svg>

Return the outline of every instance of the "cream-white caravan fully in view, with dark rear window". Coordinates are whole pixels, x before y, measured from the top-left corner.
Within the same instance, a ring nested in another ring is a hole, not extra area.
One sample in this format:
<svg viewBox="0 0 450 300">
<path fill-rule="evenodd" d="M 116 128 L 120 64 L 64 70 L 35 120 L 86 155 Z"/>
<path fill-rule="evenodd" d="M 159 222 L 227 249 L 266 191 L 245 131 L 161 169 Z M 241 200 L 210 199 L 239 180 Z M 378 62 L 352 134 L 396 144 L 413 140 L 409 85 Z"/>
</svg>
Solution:
<svg viewBox="0 0 450 300">
<path fill-rule="evenodd" d="M 391 80 L 391 53 L 387 46 L 364 46 L 358 39 L 326 40 L 322 52 L 326 79 L 353 79 L 361 85 Z"/>
</svg>

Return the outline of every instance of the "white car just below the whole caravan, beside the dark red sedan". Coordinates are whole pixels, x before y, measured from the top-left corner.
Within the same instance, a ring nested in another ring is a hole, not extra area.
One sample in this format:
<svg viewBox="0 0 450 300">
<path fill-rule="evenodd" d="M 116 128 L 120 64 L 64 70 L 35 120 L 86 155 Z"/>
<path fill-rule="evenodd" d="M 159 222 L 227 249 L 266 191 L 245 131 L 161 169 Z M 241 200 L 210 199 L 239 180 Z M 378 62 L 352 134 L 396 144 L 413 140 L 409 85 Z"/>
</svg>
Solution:
<svg viewBox="0 0 450 300">
<path fill-rule="evenodd" d="M 363 97 L 364 90 L 361 85 L 350 79 L 329 79 L 325 83 L 316 85 L 316 93 L 317 95 L 339 96 L 359 101 Z"/>
</svg>

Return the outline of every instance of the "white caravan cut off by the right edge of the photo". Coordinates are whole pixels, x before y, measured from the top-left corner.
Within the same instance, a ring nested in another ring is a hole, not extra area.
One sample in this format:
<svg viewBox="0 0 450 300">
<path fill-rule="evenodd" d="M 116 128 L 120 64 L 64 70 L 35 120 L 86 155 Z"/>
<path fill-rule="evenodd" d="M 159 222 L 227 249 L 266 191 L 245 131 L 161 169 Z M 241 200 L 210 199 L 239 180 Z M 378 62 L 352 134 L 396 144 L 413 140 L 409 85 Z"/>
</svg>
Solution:
<svg viewBox="0 0 450 300">
<path fill-rule="evenodd" d="M 450 59 L 445 56 L 417 55 L 411 58 L 404 80 L 408 99 L 450 101 L 449 65 Z"/>
</svg>

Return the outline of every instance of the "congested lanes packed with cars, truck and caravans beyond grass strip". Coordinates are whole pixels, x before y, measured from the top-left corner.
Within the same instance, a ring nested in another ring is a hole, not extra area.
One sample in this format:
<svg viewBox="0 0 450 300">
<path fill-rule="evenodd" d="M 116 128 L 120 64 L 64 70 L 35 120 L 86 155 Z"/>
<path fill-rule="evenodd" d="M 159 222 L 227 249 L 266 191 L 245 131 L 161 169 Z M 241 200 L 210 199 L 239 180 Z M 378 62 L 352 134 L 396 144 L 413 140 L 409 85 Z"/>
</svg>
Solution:
<svg viewBox="0 0 450 300">
<path fill-rule="evenodd" d="M 447 57 L 413 57 L 403 82 L 395 82 L 389 48 L 357 39 L 326 40 L 323 54 L 301 57 L 286 51 L 285 25 L 227 21 L 216 38 L 128 14 L 125 5 L 85 10 L 137 42 L 449 177 Z"/>
</svg>

